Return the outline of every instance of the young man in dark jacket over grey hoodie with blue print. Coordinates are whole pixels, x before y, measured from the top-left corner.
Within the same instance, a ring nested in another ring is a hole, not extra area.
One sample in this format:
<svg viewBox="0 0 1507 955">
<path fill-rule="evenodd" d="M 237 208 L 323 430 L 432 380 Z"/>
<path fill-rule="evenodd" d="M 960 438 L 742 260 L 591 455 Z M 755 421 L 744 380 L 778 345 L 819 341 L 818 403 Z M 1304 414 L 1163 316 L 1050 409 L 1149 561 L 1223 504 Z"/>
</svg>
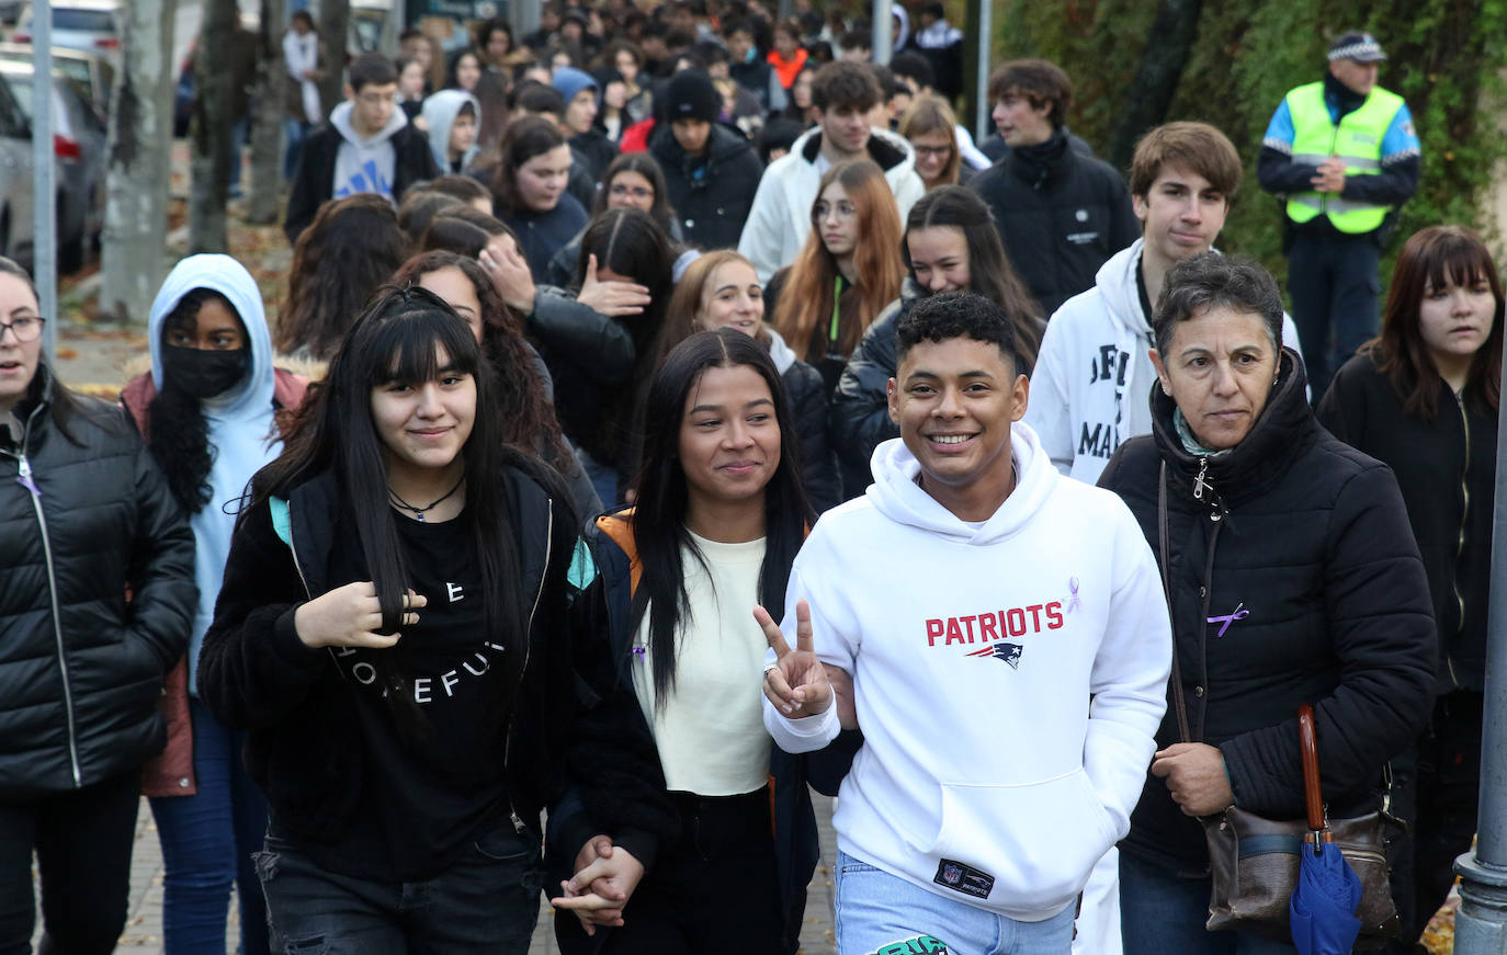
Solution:
<svg viewBox="0 0 1507 955">
<path fill-rule="evenodd" d="M 398 71 L 378 53 L 351 63 L 345 102 L 303 142 L 288 196 L 289 243 L 313 221 L 319 205 L 353 193 L 378 193 L 398 203 L 420 179 L 440 175 L 429 140 L 396 108 Z"/>
</svg>

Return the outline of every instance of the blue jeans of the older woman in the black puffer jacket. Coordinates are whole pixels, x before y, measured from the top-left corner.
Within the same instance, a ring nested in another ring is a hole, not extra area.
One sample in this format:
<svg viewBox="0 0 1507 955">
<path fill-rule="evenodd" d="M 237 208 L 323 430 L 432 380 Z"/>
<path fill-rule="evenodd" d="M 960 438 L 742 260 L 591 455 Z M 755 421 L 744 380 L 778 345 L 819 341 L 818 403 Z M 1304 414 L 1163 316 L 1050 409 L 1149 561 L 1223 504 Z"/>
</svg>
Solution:
<svg viewBox="0 0 1507 955">
<path fill-rule="evenodd" d="M 1120 853 L 1120 935 L 1126 955 L 1298 955 L 1285 941 L 1206 929 L 1209 889 L 1209 878 L 1181 878 Z"/>
</svg>

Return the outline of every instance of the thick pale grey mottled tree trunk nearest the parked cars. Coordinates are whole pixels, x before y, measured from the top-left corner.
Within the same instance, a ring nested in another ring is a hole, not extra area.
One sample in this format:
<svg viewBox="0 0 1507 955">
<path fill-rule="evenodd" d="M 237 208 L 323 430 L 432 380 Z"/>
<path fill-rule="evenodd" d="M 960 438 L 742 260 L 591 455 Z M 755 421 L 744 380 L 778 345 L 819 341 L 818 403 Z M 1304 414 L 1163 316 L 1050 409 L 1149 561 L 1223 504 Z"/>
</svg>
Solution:
<svg viewBox="0 0 1507 955">
<path fill-rule="evenodd" d="M 167 274 L 176 0 L 125 6 L 121 68 L 110 99 L 99 312 L 145 322 Z"/>
</svg>

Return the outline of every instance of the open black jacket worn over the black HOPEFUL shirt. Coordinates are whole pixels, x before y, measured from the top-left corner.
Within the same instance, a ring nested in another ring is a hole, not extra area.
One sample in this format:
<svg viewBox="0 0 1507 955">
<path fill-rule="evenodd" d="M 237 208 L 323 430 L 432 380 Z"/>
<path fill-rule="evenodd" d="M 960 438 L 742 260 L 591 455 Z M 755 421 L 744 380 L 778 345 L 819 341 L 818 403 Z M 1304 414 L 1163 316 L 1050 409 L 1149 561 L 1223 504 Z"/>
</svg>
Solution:
<svg viewBox="0 0 1507 955">
<path fill-rule="evenodd" d="M 662 786 L 645 785 L 657 764 L 648 735 L 633 732 L 637 703 L 613 687 L 606 642 L 574 607 L 594 568 L 568 509 L 536 471 L 508 468 L 503 487 L 518 533 L 520 598 L 533 607 L 499 755 L 512 810 L 538 834 L 540 812 L 574 780 L 600 831 L 653 859 L 674 830 L 674 810 Z M 329 589 L 342 502 L 329 473 L 292 488 L 288 542 L 270 502 L 241 515 L 199 657 L 199 693 L 216 719 L 249 731 L 246 765 L 279 825 L 316 842 L 344 834 L 363 779 L 360 728 L 335 651 L 304 646 L 294 628 L 294 612 Z"/>
</svg>

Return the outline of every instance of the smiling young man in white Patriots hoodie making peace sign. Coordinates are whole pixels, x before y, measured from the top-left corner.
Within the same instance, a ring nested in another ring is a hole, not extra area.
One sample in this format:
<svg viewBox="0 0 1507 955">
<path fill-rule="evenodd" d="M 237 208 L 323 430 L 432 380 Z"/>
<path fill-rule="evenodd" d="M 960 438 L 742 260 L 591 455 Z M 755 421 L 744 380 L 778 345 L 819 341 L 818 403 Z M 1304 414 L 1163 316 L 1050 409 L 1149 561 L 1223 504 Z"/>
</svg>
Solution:
<svg viewBox="0 0 1507 955">
<path fill-rule="evenodd" d="M 1156 749 L 1156 562 L 1124 505 L 1058 474 L 1019 423 L 1002 307 L 934 295 L 897 343 L 901 437 L 796 557 L 802 649 L 766 627 L 764 723 L 788 752 L 864 731 L 833 818 L 839 952 L 1065 953 Z"/>
</svg>

